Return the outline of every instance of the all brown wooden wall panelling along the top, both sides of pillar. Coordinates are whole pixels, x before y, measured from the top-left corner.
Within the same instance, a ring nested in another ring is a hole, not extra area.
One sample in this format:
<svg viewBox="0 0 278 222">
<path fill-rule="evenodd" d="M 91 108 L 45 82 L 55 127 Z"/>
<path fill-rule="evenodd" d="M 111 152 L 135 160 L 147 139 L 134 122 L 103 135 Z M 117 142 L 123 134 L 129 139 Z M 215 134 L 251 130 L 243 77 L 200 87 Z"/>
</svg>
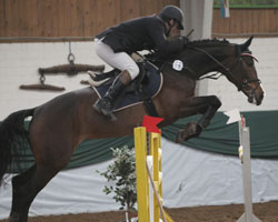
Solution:
<svg viewBox="0 0 278 222">
<path fill-rule="evenodd" d="M 179 0 L 0 0 L 0 38 L 92 38 L 121 21 L 158 13 Z M 278 36 L 278 9 L 214 9 L 212 34 Z M 1 41 L 1 39 L 0 39 Z M 32 41 L 32 40 L 31 40 Z"/>
</svg>

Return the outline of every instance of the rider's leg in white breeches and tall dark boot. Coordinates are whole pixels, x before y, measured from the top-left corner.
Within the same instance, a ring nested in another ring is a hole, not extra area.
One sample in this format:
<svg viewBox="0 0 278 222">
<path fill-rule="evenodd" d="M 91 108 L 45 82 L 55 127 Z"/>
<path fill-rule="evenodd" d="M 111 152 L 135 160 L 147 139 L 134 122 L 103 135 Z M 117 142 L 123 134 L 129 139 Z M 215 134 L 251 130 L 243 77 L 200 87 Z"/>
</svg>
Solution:
<svg viewBox="0 0 278 222">
<path fill-rule="evenodd" d="M 136 62 L 126 52 L 117 52 L 106 43 L 98 40 L 96 43 L 97 54 L 106 61 L 109 65 L 121 70 L 122 72 L 115 80 L 112 85 L 108 89 L 102 99 L 99 99 L 93 108 L 99 113 L 108 115 L 110 119 L 116 120 L 112 114 L 115 100 L 121 93 L 121 91 L 139 74 L 139 68 Z"/>
</svg>

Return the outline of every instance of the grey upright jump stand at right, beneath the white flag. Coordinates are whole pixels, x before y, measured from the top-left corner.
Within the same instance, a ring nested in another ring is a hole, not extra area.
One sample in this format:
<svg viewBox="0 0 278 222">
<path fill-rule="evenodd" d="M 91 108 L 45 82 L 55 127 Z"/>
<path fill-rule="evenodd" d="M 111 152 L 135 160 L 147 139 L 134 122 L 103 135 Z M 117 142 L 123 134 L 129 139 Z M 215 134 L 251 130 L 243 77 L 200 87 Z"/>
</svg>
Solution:
<svg viewBox="0 0 278 222">
<path fill-rule="evenodd" d="M 252 185 L 251 185 L 251 158 L 250 158 L 250 133 L 249 128 L 245 125 L 245 119 L 241 117 L 239 125 L 239 158 L 242 168 L 242 186 L 245 196 L 245 213 L 237 222 L 261 222 L 252 213 Z"/>
</svg>

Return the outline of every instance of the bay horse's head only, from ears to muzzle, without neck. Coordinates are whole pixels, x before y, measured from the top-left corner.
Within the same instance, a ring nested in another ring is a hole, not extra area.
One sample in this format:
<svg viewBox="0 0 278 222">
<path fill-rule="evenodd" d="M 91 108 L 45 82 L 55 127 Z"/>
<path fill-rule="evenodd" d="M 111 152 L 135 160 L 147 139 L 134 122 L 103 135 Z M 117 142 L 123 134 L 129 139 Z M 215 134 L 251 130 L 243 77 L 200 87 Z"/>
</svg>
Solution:
<svg viewBox="0 0 278 222">
<path fill-rule="evenodd" d="M 259 105 L 262 102 L 265 92 L 255 68 L 254 61 L 257 61 L 257 59 L 248 49 L 251 41 L 252 37 L 242 44 L 236 44 L 236 61 L 235 57 L 227 59 L 229 64 L 225 62 L 225 65 L 228 69 L 222 73 L 239 91 L 242 91 L 248 97 L 248 102 Z"/>
</svg>

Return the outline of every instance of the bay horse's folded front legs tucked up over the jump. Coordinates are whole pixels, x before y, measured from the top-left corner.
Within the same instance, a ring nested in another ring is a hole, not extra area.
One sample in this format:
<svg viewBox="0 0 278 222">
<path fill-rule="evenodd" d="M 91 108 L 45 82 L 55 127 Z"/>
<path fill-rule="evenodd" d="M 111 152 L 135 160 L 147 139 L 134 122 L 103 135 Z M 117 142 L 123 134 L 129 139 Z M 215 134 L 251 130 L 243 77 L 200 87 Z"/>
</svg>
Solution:
<svg viewBox="0 0 278 222">
<path fill-rule="evenodd" d="M 190 117 L 201 113 L 202 117 L 197 122 L 189 122 L 183 130 L 177 134 L 176 142 L 181 143 L 190 138 L 198 137 L 202 129 L 209 125 L 210 120 L 221 107 L 221 101 L 216 95 L 196 97 L 185 101 L 181 107 L 181 117 Z"/>
</svg>

